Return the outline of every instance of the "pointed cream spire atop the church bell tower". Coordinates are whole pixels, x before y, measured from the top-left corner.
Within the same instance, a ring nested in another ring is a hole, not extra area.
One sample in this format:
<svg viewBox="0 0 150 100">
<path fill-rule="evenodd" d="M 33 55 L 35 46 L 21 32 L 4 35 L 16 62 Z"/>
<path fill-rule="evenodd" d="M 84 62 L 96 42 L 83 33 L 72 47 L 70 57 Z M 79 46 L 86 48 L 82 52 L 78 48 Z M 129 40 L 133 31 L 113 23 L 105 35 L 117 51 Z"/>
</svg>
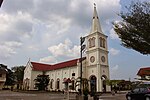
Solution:
<svg viewBox="0 0 150 100">
<path fill-rule="evenodd" d="M 100 26 L 100 22 L 99 22 L 99 18 L 98 18 L 98 14 L 97 14 L 96 4 L 95 3 L 94 3 L 94 13 L 93 13 L 93 19 L 92 19 L 91 33 L 94 33 L 94 32 L 102 33 L 102 29 L 101 29 L 101 26 Z"/>
</svg>

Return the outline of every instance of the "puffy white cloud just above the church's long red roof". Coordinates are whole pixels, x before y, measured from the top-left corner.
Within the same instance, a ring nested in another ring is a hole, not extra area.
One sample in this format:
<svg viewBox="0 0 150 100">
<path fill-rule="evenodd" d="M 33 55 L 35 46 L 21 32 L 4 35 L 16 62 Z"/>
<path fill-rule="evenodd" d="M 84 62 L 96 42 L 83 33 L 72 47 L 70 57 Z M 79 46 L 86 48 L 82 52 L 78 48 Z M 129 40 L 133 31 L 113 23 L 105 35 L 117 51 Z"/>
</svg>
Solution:
<svg viewBox="0 0 150 100">
<path fill-rule="evenodd" d="M 59 58 L 73 59 L 79 57 L 80 47 L 73 45 L 69 39 L 66 39 L 64 43 L 53 45 L 48 48 L 52 56 L 41 58 L 41 62 L 56 63 Z"/>
</svg>

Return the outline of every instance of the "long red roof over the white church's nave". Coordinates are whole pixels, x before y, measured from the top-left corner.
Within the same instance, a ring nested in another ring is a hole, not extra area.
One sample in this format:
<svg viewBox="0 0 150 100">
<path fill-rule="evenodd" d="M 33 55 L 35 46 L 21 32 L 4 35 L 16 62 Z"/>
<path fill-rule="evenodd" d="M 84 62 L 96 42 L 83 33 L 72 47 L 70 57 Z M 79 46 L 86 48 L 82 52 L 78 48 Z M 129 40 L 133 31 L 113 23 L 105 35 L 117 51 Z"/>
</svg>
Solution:
<svg viewBox="0 0 150 100">
<path fill-rule="evenodd" d="M 82 60 L 85 60 L 86 58 L 82 58 Z M 66 67 L 73 67 L 77 66 L 77 62 L 79 59 L 73 59 L 69 60 L 66 62 L 61 62 L 57 63 L 54 65 L 49 65 L 49 64 L 43 64 L 43 63 L 37 63 L 37 62 L 31 62 L 33 66 L 33 70 L 36 71 L 50 71 L 50 70 L 56 70 L 56 69 L 61 69 L 61 68 L 66 68 Z"/>
</svg>

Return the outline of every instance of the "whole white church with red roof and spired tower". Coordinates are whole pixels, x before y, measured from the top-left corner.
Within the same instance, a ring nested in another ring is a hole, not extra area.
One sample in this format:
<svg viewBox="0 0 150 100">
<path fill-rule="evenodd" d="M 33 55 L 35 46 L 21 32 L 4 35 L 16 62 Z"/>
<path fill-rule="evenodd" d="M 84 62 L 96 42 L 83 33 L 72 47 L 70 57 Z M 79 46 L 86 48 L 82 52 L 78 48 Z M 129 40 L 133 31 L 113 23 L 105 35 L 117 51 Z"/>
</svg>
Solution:
<svg viewBox="0 0 150 100">
<path fill-rule="evenodd" d="M 82 58 L 82 77 L 89 80 L 89 90 L 92 86 L 96 92 L 110 91 L 106 80 L 109 80 L 109 64 L 108 64 L 108 46 L 107 36 L 102 32 L 96 7 L 94 7 L 92 29 L 85 36 L 86 39 L 86 55 Z M 23 88 L 25 90 L 36 90 L 34 79 L 39 74 L 49 75 L 50 81 L 47 87 L 50 91 L 62 91 L 64 82 L 69 79 L 72 87 L 70 91 L 74 91 L 75 83 L 79 79 L 81 59 L 73 59 L 57 64 L 43 64 L 28 61 L 24 70 Z"/>
</svg>

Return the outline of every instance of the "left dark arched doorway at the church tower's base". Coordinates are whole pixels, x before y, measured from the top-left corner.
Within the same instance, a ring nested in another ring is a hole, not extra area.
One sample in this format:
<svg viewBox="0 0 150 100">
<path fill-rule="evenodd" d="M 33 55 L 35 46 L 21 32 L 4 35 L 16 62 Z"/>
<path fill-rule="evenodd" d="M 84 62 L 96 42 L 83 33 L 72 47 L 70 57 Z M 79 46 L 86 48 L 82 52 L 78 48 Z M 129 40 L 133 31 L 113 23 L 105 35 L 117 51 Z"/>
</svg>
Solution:
<svg viewBox="0 0 150 100">
<path fill-rule="evenodd" d="M 96 81 L 97 81 L 96 76 L 92 75 L 90 77 L 90 91 L 91 92 L 96 92 L 96 90 L 97 90 L 97 88 L 96 88 Z"/>
</svg>

